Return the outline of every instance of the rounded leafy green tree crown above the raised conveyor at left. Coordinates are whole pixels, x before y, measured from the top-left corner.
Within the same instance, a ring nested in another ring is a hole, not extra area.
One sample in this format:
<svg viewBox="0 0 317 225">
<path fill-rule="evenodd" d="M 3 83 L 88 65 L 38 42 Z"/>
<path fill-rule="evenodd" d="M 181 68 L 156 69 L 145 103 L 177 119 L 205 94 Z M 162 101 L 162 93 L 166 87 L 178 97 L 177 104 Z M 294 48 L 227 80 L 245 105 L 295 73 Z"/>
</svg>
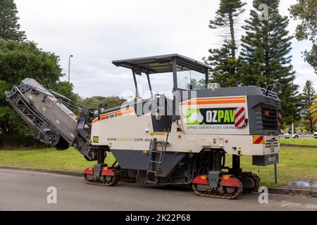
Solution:
<svg viewBox="0 0 317 225">
<path fill-rule="evenodd" d="M 8 84 L 30 77 L 51 88 L 63 76 L 58 63 L 58 56 L 39 49 L 34 42 L 0 39 L 0 79 Z"/>
</svg>

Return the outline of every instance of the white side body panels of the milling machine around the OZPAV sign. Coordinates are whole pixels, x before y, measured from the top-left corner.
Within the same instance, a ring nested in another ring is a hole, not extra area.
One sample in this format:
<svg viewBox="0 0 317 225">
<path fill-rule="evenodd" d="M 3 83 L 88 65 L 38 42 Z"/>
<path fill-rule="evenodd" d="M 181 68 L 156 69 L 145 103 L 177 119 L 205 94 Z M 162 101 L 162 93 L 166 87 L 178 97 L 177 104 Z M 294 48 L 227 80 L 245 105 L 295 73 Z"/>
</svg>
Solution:
<svg viewBox="0 0 317 225">
<path fill-rule="evenodd" d="M 229 100 L 228 100 L 229 99 Z M 245 108 L 245 117 L 247 115 L 247 98 L 243 103 L 228 103 L 228 99 L 216 99 L 211 104 L 196 105 L 180 104 L 182 116 L 180 120 L 174 121 L 168 137 L 168 146 L 166 151 L 199 153 L 202 149 L 221 148 L 231 155 L 269 155 L 278 153 L 278 136 L 252 136 L 249 134 L 249 127 L 237 129 L 234 125 L 215 125 L 223 129 L 206 129 L 207 125 L 188 125 L 187 109 L 218 109 L 222 108 Z M 220 103 L 223 102 L 223 103 Z M 194 106 L 194 107 L 193 107 Z M 233 127 L 232 127 L 233 126 Z M 191 129 L 197 127 L 197 129 Z M 224 128 L 225 127 L 225 128 Z M 111 149 L 118 150 L 149 150 L 150 139 L 156 138 L 158 141 L 165 141 L 166 133 L 156 133 L 153 131 L 151 113 L 137 116 L 133 108 L 116 110 L 105 115 L 101 115 L 101 120 L 95 119 L 92 123 L 92 145 L 109 146 Z M 98 137 L 98 142 L 96 142 Z M 256 140 L 263 139 L 260 143 Z M 276 139 L 275 144 L 271 140 Z M 255 140 L 255 141 L 254 141 Z M 95 141 L 95 142 L 94 142 Z M 266 146 L 267 143 L 267 146 Z M 158 146 L 159 149 L 159 146 Z"/>
</svg>

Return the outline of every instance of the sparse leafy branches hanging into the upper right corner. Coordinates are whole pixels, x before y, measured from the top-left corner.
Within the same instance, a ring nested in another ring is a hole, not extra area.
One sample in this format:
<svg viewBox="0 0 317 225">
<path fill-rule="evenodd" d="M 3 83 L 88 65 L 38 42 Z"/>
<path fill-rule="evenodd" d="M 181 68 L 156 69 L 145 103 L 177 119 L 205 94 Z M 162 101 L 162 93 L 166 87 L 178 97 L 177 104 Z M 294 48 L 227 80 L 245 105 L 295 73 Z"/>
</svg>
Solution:
<svg viewBox="0 0 317 225">
<path fill-rule="evenodd" d="M 316 0 L 297 0 L 290 7 L 294 20 L 302 20 L 296 28 L 296 38 L 299 41 L 309 40 L 313 43 L 311 51 L 304 51 L 304 58 L 317 74 L 317 3 Z"/>
</svg>

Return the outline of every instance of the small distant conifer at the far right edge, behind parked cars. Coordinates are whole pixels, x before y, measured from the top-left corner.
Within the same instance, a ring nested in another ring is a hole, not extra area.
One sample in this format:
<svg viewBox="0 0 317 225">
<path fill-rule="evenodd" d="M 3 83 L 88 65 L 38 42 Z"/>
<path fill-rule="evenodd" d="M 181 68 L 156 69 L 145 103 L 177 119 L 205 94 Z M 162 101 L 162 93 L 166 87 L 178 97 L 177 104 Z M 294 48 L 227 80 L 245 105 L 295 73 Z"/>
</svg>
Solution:
<svg viewBox="0 0 317 225">
<path fill-rule="evenodd" d="M 316 96 L 316 90 L 313 88 L 313 82 L 310 80 L 306 81 L 306 85 L 303 89 L 303 116 L 306 120 L 309 120 L 309 126 L 307 127 L 307 130 L 311 133 L 315 130 L 313 126 L 313 114 L 310 111 L 311 106 L 313 106 L 313 100 Z"/>
</svg>

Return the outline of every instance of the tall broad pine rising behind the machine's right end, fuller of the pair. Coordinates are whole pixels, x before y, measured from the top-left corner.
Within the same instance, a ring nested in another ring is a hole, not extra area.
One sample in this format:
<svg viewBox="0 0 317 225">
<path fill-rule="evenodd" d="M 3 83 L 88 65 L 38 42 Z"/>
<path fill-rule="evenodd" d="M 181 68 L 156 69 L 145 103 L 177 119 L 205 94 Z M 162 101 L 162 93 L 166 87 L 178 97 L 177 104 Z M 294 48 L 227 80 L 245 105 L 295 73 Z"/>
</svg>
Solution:
<svg viewBox="0 0 317 225">
<path fill-rule="evenodd" d="M 268 6 L 265 16 L 259 11 L 263 4 Z M 246 35 L 242 37 L 240 76 L 243 85 L 265 88 L 280 83 L 283 121 L 292 122 L 299 118 L 301 105 L 298 86 L 293 84 L 295 77 L 290 56 L 293 37 L 287 31 L 289 19 L 279 13 L 279 4 L 279 0 L 253 1 L 251 17 L 242 27 Z"/>
</svg>

